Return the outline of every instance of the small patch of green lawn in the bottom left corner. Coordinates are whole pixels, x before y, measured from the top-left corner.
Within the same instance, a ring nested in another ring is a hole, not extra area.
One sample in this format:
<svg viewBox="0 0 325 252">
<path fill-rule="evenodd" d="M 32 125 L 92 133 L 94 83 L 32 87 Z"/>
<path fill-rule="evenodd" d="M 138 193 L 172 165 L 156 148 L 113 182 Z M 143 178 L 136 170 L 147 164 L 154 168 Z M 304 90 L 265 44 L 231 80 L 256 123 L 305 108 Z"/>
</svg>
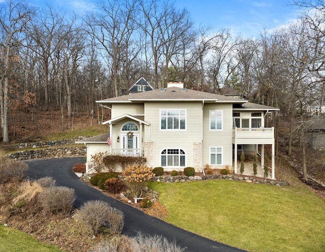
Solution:
<svg viewBox="0 0 325 252">
<path fill-rule="evenodd" d="M 6 252 L 56 252 L 58 247 L 38 242 L 18 230 L 0 225 L 0 251 Z"/>
</svg>

